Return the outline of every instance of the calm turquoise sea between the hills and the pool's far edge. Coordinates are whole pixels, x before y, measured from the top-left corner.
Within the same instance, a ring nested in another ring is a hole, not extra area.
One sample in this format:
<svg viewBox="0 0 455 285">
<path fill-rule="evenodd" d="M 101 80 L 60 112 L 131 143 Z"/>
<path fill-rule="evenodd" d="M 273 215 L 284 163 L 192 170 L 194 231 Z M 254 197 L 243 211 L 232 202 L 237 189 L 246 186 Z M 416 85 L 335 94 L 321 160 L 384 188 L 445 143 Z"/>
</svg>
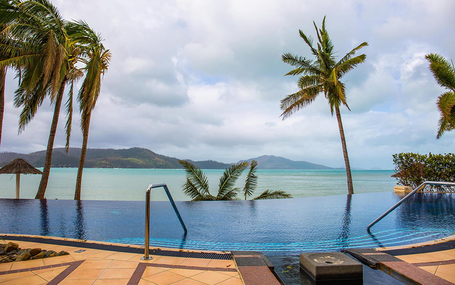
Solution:
<svg viewBox="0 0 455 285">
<path fill-rule="evenodd" d="M 223 170 L 204 170 L 212 194 L 217 193 Z M 246 172 L 246 171 L 245 171 Z M 353 170 L 354 193 L 389 192 L 396 185 L 392 170 Z M 73 199 L 77 168 L 52 168 L 45 194 L 47 199 Z M 284 190 L 295 198 L 347 194 L 345 170 L 258 170 L 255 196 L 265 189 Z M 181 191 L 183 169 L 84 169 L 82 200 L 143 201 L 147 185 L 166 183 L 176 201 L 190 200 Z M 20 198 L 34 198 L 41 175 L 21 175 Z M 243 187 L 245 175 L 237 182 Z M 0 198 L 15 197 L 15 174 L 0 175 Z M 162 188 L 154 189 L 152 200 L 163 201 Z"/>
</svg>

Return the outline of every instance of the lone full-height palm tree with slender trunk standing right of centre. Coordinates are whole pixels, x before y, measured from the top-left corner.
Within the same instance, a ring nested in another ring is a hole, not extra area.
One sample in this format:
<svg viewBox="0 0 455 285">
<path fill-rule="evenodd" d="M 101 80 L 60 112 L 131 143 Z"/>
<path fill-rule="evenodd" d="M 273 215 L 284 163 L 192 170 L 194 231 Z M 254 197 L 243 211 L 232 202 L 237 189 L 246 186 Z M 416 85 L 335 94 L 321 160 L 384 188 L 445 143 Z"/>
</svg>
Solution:
<svg viewBox="0 0 455 285">
<path fill-rule="evenodd" d="M 295 67 L 295 69 L 286 75 L 303 75 L 298 80 L 300 90 L 281 100 L 281 110 L 283 111 L 281 117 L 283 117 L 283 120 L 290 117 L 300 109 L 309 106 L 316 99 L 317 95 L 324 93 L 324 96 L 329 101 L 332 116 L 335 110 L 338 128 L 340 130 L 344 163 L 346 165 L 348 194 L 353 194 L 351 168 L 349 166 L 346 139 L 341 122 L 340 105 L 343 104 L 348 110 L 350 109 L 346 103 L 345 84 L 340 79 L 358 64 L 365 61 L 367 57 L 365 54 L 356 57 L 354 55 L 363 46 L 368 45 L 368 43 L 361 43 L 337 62 L 334 46 L 326 30 L 325 22 L 326 17 L 324 17 L 322 29 L 318 29 L 313 21 L 318 40 L 317 48 L 313 47 L 311 36 L 306 36 L 299 30 L 300 37 L 309 46 L 311 54 L 315 57 L 314 61 L 291 54 L 284 54 L 282 57 L 283 62 Z"/>
</svg>

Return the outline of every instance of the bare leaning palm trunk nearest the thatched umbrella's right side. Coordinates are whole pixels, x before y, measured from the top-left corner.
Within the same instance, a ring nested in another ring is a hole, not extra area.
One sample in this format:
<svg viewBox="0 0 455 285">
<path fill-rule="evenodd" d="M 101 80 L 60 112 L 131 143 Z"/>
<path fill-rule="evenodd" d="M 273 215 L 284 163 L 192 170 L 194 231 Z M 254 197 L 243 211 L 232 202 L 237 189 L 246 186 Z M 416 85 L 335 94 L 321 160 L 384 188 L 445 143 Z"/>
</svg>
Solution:
<svg viewBox="0 0 455 285">
<path fill-rule="evenodd" d="M 54 149 L 55 133 L 57 132 L 57 125 L 59 123 L 60 107 L 62 106 L 63 92 L 65 91 L 66 81 L 65 77 L 60 85 L 57 99 L 55 101 L 54 118 L 52 119 L 51 132 L 49 133 L 48 148 L 46 150 L 46 158 L 44 160 L 44 169 L 42 170 L 41 182 L 39 182 L 38 193 L 35 199 L 44 199 L 44 193 L 48 186 L 49 173 L 51 172 L 52 151 Z"/>
</svg>

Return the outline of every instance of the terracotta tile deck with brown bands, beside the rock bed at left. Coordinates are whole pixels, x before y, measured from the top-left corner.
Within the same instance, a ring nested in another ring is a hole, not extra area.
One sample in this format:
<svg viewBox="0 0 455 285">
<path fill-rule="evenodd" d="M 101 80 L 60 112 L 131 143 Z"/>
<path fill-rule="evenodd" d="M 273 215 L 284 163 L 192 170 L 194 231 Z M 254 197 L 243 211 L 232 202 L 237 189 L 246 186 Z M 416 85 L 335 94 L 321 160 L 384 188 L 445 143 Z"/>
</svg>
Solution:
<svg viewBox="0 0 455 285">
<path fill-rule="evenodd" d="M 7 240 L 8 242 L 8 240 Z M 13 241 L 16 242 L 16 241 Z M 242 285 L 233 260 L 153 256 L 16 242 L 70 255 L 0 263 L 0 285 Z M 76 253 L 78 250 L 83 252 Z"/>
</svg>

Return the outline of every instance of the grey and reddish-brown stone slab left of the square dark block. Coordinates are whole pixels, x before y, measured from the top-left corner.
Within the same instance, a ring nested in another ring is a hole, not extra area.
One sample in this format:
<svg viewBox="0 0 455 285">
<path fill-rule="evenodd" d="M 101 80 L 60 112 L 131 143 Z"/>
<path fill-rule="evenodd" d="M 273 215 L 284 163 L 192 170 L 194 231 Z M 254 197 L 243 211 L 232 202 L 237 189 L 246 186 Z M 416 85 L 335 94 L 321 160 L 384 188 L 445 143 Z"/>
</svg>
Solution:
<svg viewBox="0 0 455 285">
<path fill-rule="evenodd" d="M 285 285 L 274 265 L 259 251 L 231 251 L 245 285 Z"/>
</svg>

